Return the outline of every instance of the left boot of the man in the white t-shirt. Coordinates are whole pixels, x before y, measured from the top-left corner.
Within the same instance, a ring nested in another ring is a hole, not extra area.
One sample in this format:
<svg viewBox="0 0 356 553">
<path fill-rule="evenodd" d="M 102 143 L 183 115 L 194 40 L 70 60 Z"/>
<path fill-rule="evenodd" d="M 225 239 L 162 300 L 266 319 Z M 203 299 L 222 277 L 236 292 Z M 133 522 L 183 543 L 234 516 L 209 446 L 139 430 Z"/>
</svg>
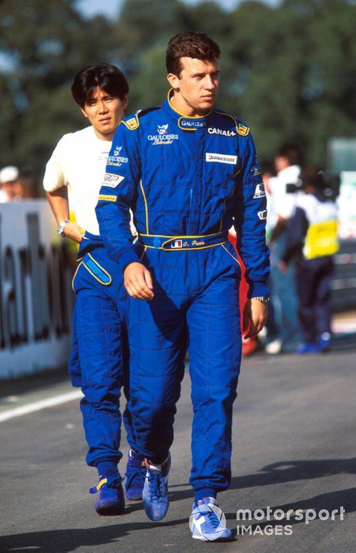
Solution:
<svg viewBox="0 0 356 553">
<path fill-rule="evenodd" d="M 99 477 L 99 483 L 90 488 L 90 494 L 100 491 L 100 498 L 95 503 L 94 509 L 97 514 L 108 516 L 123 514 L 125 510 L 125 498 L 123 497 L 122 478 L 120 475 L 114 478 Z"/>
</svg>

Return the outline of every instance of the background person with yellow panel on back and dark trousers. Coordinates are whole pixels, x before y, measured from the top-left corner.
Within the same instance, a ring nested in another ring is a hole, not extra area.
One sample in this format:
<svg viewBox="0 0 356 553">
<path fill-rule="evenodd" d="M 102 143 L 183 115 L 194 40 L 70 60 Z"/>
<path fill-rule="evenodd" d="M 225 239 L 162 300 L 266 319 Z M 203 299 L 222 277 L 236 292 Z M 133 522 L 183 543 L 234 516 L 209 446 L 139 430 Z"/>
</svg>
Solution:
<svg viewBox="0 0 356 553">
<path fill-rule="evenodd" d="M 315 169 L 302 176 L 305 194 L 297 199 L 279 268 L 297 258 L 296 285 L 303 341 L 296 353 L 326 352 L 331 344 L 330 285 L 337 241 L 337 207 L 326 196 L 326 182 Z"/>
</svg>

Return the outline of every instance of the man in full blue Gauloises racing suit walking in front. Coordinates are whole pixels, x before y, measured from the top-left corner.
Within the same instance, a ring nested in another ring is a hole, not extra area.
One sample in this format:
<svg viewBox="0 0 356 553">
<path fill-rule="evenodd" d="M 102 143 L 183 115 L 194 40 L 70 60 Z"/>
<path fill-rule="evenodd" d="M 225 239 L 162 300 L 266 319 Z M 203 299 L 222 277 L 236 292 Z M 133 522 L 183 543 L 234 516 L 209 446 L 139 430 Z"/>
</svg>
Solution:
<svg viewBox="0 0 356 553">
<path fill-rule="evenodd" d="M 170 40 L 168 99 L 119 125 L 96 208 L 101 237 L 130 294 L 130 413 L 137 451 L 146 458 L 144 508 L 152 520 L 168 509 L 169 449 L 189 339 L 193 507 L 211 506 L 205 523 L 193 525 L 200 539 L 231 536 L 218 532 L 212 507 L 230 485 L 241 360 L 241 273 L 228 242 L 233 224 L 249 284 L 247 336 L 264 326 L 268 301 L 266 194 L 250 129 L 213 107 L 219 55 L 201 32 Z"/>
</svg>

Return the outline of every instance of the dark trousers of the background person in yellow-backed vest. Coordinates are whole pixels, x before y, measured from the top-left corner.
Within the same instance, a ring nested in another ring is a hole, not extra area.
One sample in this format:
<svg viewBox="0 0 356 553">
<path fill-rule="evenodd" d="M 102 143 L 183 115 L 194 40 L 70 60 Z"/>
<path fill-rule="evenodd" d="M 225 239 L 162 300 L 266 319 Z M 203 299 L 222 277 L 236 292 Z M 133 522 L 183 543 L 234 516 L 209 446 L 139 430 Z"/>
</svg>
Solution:
<svg viewBox="0 0 356 553">
<path fill-rule="evenodd" d="M 304 341 L 315 341 L 331 332 L 330 288 L 334 264 L 331 256 L 302 259 L 297 263 L 299 321 Z"/>
</svg>

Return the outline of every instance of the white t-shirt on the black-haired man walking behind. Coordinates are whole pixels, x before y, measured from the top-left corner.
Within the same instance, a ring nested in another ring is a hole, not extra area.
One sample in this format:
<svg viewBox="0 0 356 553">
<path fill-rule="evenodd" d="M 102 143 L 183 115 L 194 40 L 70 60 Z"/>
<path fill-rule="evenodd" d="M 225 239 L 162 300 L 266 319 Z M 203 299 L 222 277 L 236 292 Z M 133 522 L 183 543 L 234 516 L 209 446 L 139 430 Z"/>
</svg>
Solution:
<svg viewBox="0 0 356 553">
<path fill-rule="evenodd" d="M 99 235 L 95 215 L 111 142 L 97 138 L 92 126 L 65 134 L 46 165 L 43 187 L 52 192 L 68 186 L 68 199 L 75 220 L 91 234 Z M 135 227 L 131 224 L 132 234 Z M 136 233 L 135 233 L 136 234 Z"/>
</svg>

